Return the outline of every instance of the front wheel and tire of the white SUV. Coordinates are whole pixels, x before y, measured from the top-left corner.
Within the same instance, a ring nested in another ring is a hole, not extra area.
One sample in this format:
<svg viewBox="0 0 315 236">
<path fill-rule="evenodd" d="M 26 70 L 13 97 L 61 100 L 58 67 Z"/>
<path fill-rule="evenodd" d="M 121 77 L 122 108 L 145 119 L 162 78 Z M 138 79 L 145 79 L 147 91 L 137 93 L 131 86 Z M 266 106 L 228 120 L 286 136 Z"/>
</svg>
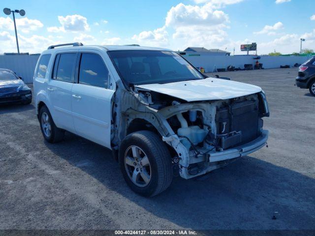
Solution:
<svg viewBox="0 0 315 236">
<path fill-rule="evenodd" d="M 119 164 L 128 186 L 140 195 L 155 196 L 172 182 L 170 153 L 151 131 L 126 136 L 119 149 Z"/>
</svg>

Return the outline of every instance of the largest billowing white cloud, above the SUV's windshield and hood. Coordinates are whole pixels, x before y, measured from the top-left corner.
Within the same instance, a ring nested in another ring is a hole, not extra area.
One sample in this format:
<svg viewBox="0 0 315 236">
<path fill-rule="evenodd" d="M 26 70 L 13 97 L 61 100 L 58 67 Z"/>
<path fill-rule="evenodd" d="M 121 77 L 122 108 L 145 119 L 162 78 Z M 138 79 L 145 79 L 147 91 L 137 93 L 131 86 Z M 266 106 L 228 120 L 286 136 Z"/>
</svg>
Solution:
<svg viewBox="0 0 315 236">
<path fill-rule="evenodd" d="M 177 49 L 179 45 L 181 48 L 213 47 L 226 41 L 225 29 L 229 23 L 228 15 L 216 8 L 240 1 L 242 0 L 210 0 L 201 6 L 179 3 L 167 12 L 163 27 L 142 31 L 132 39 L 140 45 L 170 45 Z M 169 34 L 170 31 L 174 31 L 172 35 Z"/>
</svg>

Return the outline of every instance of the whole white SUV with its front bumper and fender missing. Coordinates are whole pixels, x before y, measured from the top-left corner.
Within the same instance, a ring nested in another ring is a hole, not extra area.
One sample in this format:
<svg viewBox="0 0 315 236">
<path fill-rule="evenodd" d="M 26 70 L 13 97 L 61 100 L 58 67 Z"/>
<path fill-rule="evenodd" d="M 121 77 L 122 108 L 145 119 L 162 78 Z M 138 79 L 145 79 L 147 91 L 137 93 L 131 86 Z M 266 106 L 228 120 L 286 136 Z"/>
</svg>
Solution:
<svg viewBox="0 0 315 236">
<path fill-rule="evenodd" d="M 66 45 L 50 46 L 35 69 L 42 134 L 112 149 L 133 191 L 157 195 L 174 175 L 204 175 L 266 145 L 261 88 L 208 78 L 166 49 Z"/>
</svg>

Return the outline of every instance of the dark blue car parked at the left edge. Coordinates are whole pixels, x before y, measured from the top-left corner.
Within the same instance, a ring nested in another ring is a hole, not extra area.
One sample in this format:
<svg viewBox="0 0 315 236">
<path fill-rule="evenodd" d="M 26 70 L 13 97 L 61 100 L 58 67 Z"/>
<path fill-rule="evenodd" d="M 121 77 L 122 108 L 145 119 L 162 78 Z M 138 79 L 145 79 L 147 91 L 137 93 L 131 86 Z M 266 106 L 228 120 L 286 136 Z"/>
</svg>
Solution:
<svg viewBox="0 0 315 236">
<path fill-rule="evenodd" d="M 32 102 L 32 90 L 9 69 L 0 68 L 0 104 Z"/>
</svg>

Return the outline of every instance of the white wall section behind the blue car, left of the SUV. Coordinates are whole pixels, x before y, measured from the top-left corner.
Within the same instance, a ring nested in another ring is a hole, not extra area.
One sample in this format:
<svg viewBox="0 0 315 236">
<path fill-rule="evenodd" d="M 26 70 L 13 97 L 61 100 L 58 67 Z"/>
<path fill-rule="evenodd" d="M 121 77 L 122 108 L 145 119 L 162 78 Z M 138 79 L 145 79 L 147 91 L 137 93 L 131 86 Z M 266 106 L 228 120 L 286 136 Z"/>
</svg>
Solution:
<svg viewBox="0 0 315 236">
<path fill-rule="evenodd" d="M 10 69 L 22 76 L 25 83 L 32 83 L 38 58 L 39 55 L 0 55 L 0 68 Z"/>
</svg>

